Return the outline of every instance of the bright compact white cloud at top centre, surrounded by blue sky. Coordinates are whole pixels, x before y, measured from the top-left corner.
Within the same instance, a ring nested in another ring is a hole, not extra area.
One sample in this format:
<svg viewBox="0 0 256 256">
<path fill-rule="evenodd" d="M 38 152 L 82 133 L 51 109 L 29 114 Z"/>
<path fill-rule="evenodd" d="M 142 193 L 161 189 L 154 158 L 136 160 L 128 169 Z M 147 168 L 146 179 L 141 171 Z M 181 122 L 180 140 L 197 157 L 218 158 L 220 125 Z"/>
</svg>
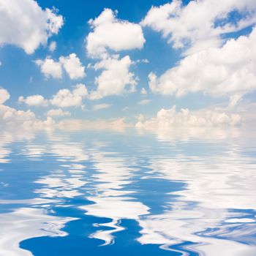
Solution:
<svg viewBox="0 0 256 256">
<path fill-rule="evenodd" d="M 130 50 L 143 48 L 145 39 L 140 25 L 118 20 L 117 12 L 105 9 L 99 17 L 89 20 L 93 29 L 86 37 L 86 50 L 89 56 L 98 57 L 110 50 Z"/>
</svg>

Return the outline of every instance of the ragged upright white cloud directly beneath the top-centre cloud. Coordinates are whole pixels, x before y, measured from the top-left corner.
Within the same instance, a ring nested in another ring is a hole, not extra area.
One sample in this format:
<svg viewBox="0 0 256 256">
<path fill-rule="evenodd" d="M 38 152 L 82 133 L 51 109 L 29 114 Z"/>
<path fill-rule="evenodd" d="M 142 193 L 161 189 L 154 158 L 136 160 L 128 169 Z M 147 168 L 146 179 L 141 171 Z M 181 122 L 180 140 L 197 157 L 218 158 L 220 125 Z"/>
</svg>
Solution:
<svg viewBox="0 0 256 256">
<path fill-rule="evenodd" d="M 129 56 L 118 59 L 118 56 L 102 59 L 94 65 L 94 69 L 104 69 L 96 79 L 97 90 L 91 92 L 91 99 L 101 99 L 110 95 L 121 95 L 135 91 L 137 84 L 134 74 L 129 72 L 132 61 Z M 128 87 L 128 88 L 127 88 Z"/>
</svg>

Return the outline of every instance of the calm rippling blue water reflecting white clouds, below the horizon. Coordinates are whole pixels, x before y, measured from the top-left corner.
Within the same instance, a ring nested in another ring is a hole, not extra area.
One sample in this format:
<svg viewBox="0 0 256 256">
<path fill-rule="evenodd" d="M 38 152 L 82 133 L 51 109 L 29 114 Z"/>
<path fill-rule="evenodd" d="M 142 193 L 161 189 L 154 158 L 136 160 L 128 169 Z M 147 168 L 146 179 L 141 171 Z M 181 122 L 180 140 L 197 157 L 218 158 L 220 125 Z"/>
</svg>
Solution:
<svg viewBox="0 0 256 256">
<path fill-rule="evenodd" d="M 255 141 L 1 132 L 0 255 L 255 256 Z"/>
</svg>

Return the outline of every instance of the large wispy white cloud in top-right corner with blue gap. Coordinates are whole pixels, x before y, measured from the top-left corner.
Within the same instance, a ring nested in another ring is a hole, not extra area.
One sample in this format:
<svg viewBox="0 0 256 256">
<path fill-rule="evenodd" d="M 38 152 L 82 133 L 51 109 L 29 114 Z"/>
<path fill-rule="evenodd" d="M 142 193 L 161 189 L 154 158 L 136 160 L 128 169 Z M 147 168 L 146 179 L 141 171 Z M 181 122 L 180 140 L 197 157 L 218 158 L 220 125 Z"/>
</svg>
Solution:
<svg viewBox="0 0 256 256">
<path fill-rule="evenodd" d="M 256 2 L 245 1 L 190 1 L 182 6 L 173 0 L 160 7 L 151 7 L 141 22 L 173 44 L 174 48 L 188 47 L 189 53 L 222 44 L 221 35 L 240 31 L 256 22 Z M 232 13 L 236 19 L 230 18 Z"/>
</svg>

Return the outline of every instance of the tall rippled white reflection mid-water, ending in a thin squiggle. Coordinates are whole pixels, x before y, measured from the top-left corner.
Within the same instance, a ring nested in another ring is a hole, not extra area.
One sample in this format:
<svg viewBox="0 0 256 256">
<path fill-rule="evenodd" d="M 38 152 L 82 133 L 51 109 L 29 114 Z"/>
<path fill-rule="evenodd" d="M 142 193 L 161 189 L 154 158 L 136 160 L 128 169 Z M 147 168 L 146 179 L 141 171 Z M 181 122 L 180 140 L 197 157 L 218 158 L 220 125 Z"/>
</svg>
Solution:
<svg viewBox="0 0 256 256">
<path fill-rule="evenodd" d="M 107 245 L 114 242 L 113 233 L 124 230 L 124 227 L 119 225 L 121 219 L 138 220 L 140 215 L 148 214 L 149 208 L 133 197 L 125 197 L 134 193 L 124 189 L 132 183 L 131 178 L 135 170 L 129 167 L 131 162 L 128 164 L 127 160 L 116 156 L 116 153 L 94 152 L 91 157 L 95 162 L 94 167 L 97 173 L 93 178 L 97 183 L 94 184 L 94 192 L 92 192 L 95 195 L 87 199 L 94 204 L 80 208 L 85 210 L 87 215 L 112 219 L 110 222 L 95 225 L 113 229 L 98 230 L 91 234 L 91 238 L 101 239 L 105 241 L 103 245 Z"/>
</svg>

